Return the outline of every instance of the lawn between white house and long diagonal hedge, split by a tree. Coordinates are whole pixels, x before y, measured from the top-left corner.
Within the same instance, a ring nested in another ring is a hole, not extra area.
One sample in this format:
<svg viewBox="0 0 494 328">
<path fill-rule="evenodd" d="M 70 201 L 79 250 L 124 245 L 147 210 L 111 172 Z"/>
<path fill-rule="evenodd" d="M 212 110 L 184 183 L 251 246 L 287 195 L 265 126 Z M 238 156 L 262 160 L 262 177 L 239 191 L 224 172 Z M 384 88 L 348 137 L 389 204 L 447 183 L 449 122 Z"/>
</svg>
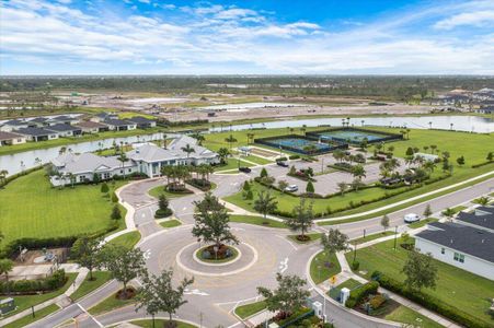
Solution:
<svg viewBox="0 0 494 328">
<path fill-rule="evenodd" d="M 401 269 L 407 257 L 407 251 L 402 247 L 393 249 L 393 241 L 387 241 L 357 251 L 357 260 L 360 262 L 359 271 L 366 271 L 364 278 L 370 279 L 375 270 L 379 270 L 399 281 L 404 281 L 405 276 Z M 398 242 L 400 244 L 400 241 Z M 347 253 L 349 262 L 353 253 Z M 435 261 L 438 268 L 436 290 L 423 289 L 423 293 L 430 294 L 450 306 L 469 313 L 470 315 L 493 325 L 494 321 L 486 314 L 491 306 L 489 302 L 494 291 L 494 281 L 467 272 L 453 266 Z"/>
</svg>

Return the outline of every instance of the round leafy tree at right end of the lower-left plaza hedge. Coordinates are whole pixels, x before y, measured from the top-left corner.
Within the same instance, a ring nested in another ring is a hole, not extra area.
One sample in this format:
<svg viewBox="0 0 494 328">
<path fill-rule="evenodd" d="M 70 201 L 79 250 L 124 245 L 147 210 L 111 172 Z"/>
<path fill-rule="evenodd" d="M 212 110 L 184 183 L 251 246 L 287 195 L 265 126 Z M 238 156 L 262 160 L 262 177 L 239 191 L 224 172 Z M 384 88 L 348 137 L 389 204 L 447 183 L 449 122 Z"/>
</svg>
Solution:
<svg viewBox="0 0 494 328">
<path fill-rule="evenodd" d="M 91 238 L 84 235 L 79 237 L 70 249 L 76 262 L 89 270 L 89 280 L 94 280 L 93 270 L 101 265 L 101 242 L 99 238 Z"/>
</svg>

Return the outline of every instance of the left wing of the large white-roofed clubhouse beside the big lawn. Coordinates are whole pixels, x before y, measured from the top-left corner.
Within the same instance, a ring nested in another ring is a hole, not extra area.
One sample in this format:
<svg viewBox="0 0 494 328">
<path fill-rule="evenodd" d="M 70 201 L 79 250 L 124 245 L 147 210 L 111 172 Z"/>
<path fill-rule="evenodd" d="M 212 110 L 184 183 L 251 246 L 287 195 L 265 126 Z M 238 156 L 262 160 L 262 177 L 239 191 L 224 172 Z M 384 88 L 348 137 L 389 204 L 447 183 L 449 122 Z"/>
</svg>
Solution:
<svg viewBox="0 0 494 328">
<path fill-rule="evenodd" d="M 137 171 L 131 161 L 122 163 L 117 157 L 104 157 L 93 153 L 66 153 L 51 161 L 54 169 L 58 173 L 50 176 L 54 186 L 73 183 L 107 180 L 114 176 L 130 175 Z"/>
</svg>

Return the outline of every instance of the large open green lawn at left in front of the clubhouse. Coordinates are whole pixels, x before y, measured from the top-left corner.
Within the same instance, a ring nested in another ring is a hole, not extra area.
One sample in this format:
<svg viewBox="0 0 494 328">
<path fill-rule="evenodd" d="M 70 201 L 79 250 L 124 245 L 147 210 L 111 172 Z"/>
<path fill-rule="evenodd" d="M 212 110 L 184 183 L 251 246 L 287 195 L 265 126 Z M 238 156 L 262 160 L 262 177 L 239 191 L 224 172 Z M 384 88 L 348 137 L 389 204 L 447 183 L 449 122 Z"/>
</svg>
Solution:
<svg viewBox="0 0 494 328">
<path fill-rule="evenodd" d="M 108 184 L 111 192 L 124 184 Z M 44 169 L 13 180 L 0 189 L 0 231 L 5 235 L 2 245 L 21 237 L 59 237 L 105 229 L 112 223 L 113 203 L 100 187 L 51 188 Z M 125 216 L 125 209 L 120 209 Z"/>
</svg>

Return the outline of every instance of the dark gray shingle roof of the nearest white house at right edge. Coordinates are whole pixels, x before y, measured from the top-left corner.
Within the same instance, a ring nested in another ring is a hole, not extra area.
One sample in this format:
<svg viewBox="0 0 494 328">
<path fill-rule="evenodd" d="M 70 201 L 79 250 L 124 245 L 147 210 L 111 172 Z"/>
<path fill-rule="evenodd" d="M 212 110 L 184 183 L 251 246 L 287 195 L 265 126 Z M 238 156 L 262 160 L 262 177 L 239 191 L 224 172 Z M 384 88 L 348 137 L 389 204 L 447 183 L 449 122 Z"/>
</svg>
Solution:
<svg viewBox="0 0 494 328">
<path fill-rule="evenodd" d="M 416 234 L 430 241 L 478 258 L 494 262 L 494 234 L 458 223 L 429 223 L 432 229 Z"/>
</svg>

